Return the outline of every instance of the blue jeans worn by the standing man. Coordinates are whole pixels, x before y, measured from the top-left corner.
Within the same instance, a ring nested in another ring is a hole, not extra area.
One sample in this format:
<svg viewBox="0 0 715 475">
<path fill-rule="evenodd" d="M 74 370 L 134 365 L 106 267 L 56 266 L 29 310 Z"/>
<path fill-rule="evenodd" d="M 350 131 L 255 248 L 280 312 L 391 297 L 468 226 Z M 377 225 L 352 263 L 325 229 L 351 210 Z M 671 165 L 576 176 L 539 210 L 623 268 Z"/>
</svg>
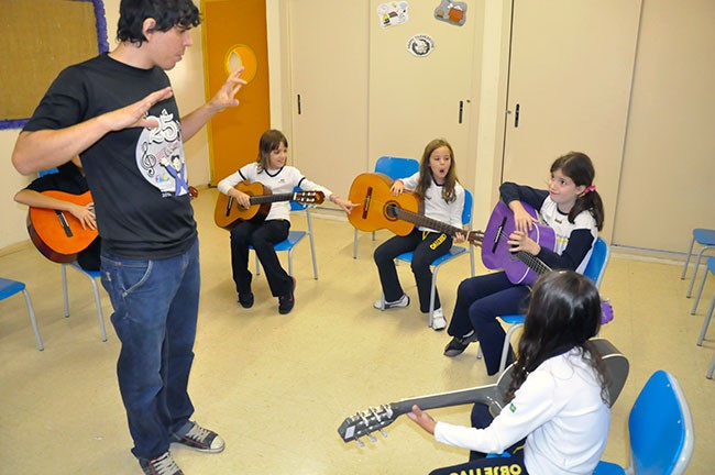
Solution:
<svg viewBox="0 0 715 475">
<path fill-rule="evenodd" d="M 154 459 L 185 430 L 199 306 L 198 240 L 182 255 L 129 259 L 102 254 L 102 285 L 122 347 L 117 363 L 132 453 Z"/>
</svg>

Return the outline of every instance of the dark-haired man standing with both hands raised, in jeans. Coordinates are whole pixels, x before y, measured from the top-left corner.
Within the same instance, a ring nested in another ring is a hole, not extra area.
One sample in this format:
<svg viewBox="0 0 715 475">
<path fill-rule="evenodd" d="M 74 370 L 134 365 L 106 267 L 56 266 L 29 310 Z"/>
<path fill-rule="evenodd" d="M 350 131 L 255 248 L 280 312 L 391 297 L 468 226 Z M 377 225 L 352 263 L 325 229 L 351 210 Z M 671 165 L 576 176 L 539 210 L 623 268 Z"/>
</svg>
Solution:
<svg viewBox="0 0 715 475">
<path fill-rule="evenodd" d="M 198 239 L 184 174 L 184 141 L 238 106 L 241 70 L 179 120 L 165 70 L 200 23 L 191 0 L 122 0 L 108 54 L 59 74 L 18 137 L 12 162 L 25 175 L 80 155 L 102 238 L 101 272 L 122 343 L 117 373 L 146 474 L 182 474 L 169 443 L 221 452 L 223 439 L 189 420 L 187 385 L 199 301 Z M 179 179 L 180 178 L 180 179 Z"/>
</svg>

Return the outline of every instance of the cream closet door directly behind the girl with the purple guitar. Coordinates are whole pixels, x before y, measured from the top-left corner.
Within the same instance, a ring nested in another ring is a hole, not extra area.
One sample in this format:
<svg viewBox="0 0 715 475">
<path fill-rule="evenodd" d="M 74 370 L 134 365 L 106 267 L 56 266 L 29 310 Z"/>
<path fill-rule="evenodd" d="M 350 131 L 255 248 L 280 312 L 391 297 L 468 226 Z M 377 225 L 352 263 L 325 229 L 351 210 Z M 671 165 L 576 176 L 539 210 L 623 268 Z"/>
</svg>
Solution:
<svg viewBox="0 0 715 475">
<path fill-rule="evenodd" d="M 546 188 L 579 151 L 596 168 L 610 241 L 641 0 L 514 1 L 503 181 Z"/>
</svg>

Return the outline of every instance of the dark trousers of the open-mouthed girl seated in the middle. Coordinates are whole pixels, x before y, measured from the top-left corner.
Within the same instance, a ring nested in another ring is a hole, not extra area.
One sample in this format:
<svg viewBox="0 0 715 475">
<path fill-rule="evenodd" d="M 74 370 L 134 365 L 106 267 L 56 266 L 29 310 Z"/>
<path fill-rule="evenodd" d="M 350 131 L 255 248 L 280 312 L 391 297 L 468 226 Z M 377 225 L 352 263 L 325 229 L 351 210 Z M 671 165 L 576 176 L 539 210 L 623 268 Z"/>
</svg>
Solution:
<svg viewBox="0 0 715 475">
<path fill-rule="evenodd" d="M 405 291 L 399 285 L 395 257 L 413 251 L 411 269 L 417 283 L 419 295 L 419 309 L 427 313 L 429 311 L 429 296 L 432 287 L 432 262 L 443 256 L 452 247 L 452 238 L 442 233 L 422 232 L 414 229 L 406 236 L 394 236 L 382 243 L 374 254 L 380 283 L 383 286 L 385 301 L 398 300 Z M 439 294 L 435 290 L 435 308 L 441 307 Z"/>
</svg>

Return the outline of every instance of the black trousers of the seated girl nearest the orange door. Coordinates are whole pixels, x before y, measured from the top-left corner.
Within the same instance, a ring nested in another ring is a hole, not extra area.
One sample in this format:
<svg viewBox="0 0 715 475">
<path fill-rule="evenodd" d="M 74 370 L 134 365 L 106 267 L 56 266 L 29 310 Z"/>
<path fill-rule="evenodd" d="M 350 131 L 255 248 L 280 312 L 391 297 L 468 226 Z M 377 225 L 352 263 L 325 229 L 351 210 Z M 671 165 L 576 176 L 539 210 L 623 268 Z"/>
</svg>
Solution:
<svg viewBox="0 0 715 475">
<path fill-rule="evenodd" d="M 290 221 L 271 220 L 254 224 L 244 221 L 231 229 L 231 266 L 233 281 L 239 294 L 251 291 L 253 275 L 249 270 L 249 245 L 252 245 L 263 270 L 265 272 L 271 294 L 274 297 L 293 291 L 293 279 L 280 266 L 278 255 L 273 246 L 288 238 Z"/>
</svg>

